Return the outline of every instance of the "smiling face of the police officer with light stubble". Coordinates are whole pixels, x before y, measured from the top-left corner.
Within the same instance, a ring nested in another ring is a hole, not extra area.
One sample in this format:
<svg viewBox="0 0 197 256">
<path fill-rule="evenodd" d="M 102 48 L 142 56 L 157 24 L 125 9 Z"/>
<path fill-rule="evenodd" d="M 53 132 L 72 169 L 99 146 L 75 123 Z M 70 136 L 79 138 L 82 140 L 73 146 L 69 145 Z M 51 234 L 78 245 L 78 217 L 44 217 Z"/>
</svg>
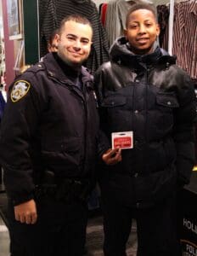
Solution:
<svg viewBox="0 0 197 256">
<path fill-rule="evenodd" d="M 92 37 L 91 26 L 73 20 L 66 21 L 59 35 L 59 57 L 70 66 L 82 65 L 90 53 Z"/>
</svg>

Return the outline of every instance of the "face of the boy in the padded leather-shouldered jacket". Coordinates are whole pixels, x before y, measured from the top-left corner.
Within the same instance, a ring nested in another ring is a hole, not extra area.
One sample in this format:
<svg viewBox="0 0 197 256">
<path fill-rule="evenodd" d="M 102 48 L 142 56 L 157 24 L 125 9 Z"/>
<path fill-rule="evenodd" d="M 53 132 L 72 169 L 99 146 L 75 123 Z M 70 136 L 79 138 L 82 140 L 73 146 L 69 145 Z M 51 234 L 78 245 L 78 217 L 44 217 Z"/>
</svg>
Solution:
<svg viewBox="0 0 197 256">
<path fill-rule="evenodd" d="M 129 16 L 125 36 L 135 54 L 150 53 L 159 34 L 160 27 L 155 20 L 155 15 L 150 10 L 138 9 Z"/>
</svg>

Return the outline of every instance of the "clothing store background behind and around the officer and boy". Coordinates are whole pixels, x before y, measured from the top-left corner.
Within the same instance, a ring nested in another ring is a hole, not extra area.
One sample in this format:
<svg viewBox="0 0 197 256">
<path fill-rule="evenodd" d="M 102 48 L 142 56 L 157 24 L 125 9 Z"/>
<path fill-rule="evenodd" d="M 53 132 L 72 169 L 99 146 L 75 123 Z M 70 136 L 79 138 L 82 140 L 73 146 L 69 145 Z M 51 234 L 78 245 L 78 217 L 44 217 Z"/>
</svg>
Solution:
<svg viewBox="0 0 197 256">
<path fill-rule="evenodd" d="M 197 0 L 144 0 L 154 3 L 160 35 L 160 48 L 177 56 L 177 66 L 189 74 L 197 98 Z M 127 11 L 138 0 L 1 0 L 0 1 L 0 119 L 7 102 L 8 86 L 14 78 L 48 53 L 48 38 L 66 15 L 84 15 L 93 26 L 91 54 L 84 64 L 94 74 L 109 61 L 109 50 L 116 38 L 124 35 Z M 195 128 L 197 132 L 197 126 Z M 196 133 L 197 134 L 197 133 Z M 196 166 L 190 183 L 179 191 L 177 219 L 182 255 L 197 255 L 197 140 Z M 1 153 L 0 153 L 1 154 Z M 6 153 L 7 154 L 7 153 Z M 8 152 L 9 154 L 9 152 Z M 0 171 L 0 255 L 9 254 L 7 194 Z M 103 214 L 100 190 L 96 183 L 87 201 L 86 255 L 103 253 Z M 166 224 L 167 225 L 167 224 Z M 127 255 L 137 255 L 137 225 L 127 241 Z M 14 255 L 14 254 L 13 254 Z M 84 254 L 85 255 L 85 254 Z M 163 254 L 162 254 L 163 255 Z M 68 255 L 70 256 L 70 255 Z M 158 255 L 160 256 L 160 255 Z"/>
</svg>

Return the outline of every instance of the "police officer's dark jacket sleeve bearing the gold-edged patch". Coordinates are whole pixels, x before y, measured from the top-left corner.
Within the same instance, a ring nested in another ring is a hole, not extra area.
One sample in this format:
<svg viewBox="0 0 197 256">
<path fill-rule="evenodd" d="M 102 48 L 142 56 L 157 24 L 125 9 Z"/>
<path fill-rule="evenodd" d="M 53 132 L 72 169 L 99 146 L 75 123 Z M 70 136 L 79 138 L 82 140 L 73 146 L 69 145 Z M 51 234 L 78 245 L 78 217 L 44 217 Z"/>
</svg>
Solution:
<svg viewBox="0 0 197 256">
<path fill-rule="evenodd" d="M 25 91 L 21 92 L 17 85 L 23 86 Z M 31 143 L 37 133 L 39 113 L 37 91 L 31 79 L 21 77 L 10 86 L 0 138 L 5 188 L 14 205 L 33 197 Z"/>
</svg>

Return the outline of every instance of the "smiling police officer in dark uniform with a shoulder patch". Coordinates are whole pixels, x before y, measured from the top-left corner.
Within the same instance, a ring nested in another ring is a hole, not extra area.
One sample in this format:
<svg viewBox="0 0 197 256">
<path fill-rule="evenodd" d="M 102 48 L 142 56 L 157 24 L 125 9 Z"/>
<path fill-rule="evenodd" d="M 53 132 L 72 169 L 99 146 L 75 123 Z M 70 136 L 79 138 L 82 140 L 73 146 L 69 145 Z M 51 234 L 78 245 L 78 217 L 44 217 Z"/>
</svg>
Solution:
<svg viewBox="0 0 197 256">
<path fill-rule="evenodd" d="M 25 256 L 82 255 L 98 136 L 92 76 L 82 66 L 92 37 L 86 18 L 66 17 L 58 52 L 10 86 L 1 162 L 8 223 Z"/>
</svg>

